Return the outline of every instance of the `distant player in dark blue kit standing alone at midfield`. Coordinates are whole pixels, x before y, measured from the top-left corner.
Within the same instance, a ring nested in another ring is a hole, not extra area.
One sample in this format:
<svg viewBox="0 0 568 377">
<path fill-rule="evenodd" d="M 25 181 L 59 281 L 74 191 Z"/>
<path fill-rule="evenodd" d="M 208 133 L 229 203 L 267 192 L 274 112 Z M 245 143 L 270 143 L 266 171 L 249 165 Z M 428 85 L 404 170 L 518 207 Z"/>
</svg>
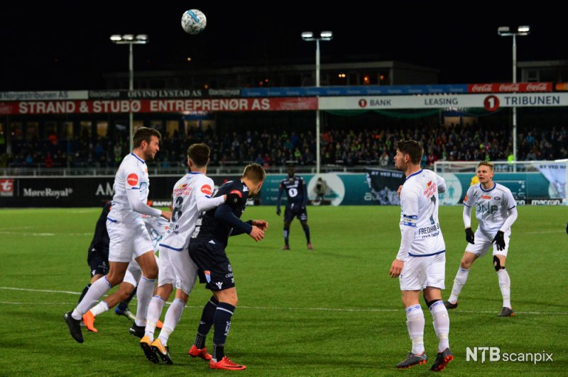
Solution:
<svg viewBox="0 0 568 377">
<path fill-rule="evenodd" d="M 290 223 L 297 217 L 302 224 L 302 228 L 306 235 L 307 249 L 312 250 L 310 242 L 310 227 L 307 226 L 307 187 L 301 176 L 295 175 L 296 169 L 293 165 L 288 165 L 288 178 L 280 181 L 280 190 L 278 190 L 278 203 L 276 203 L 276 215 L 280 216 L 280 202 L 282 201 L 282 193 L 286 191 L 286 208 L 284 210 L 284 247 L 283 250 L 290 250 L 288 243 L 290 237 Z"/>
</svg>

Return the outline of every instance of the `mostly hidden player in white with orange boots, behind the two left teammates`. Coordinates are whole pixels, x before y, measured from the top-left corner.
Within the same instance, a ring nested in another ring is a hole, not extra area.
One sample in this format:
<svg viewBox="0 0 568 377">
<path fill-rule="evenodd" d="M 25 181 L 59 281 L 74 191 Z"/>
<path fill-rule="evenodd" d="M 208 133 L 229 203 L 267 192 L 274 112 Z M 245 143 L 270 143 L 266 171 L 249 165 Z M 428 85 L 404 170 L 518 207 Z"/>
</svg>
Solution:
<svg viewBox="0 0 568 377">
<path fill-rule="evenodd" d="M 142 220 L 144 222 L 144 225 L 146 226 L 146 230 L 148 230 L 150 239 L 152 240 L 155 254 L 158 252 L 158 244 L 165 236 L 165 232 L 168 231 L 170 222 L 161 216 L 159 218 L 155 218 L 153 216 L 143 215 Z M 156 262 L 158 262 L 158 257 L 156 257 Z M 87 330 L 98 332 L 98 330 L 94 327 L 94 320 L 97 315 L 106 312 L 110 308 L 113 308 L 114 305 L 120 303 L 121 301 L 131 300 L 135 293 L 134 290 L 136 289 L 136 286 L 138 286 L 138 282 L 140 281 L 141 277 L 142 269 L 136 259 L 132 259 L 129 263 L 128 269 L 126 269 L 126 274 L 124 274 L 124 280 L 122 281 L 122 283 L 120 283 L 119 290 L 104 298 L 104 300 L 99 302 L 97 305 L 94 305 L 94 307 L 92 307 L 91 310 L 89 310 L 87 313 L 84 313 L 83 322 L 85 327 L 87 327 Z M 136 316 L 133 317 L 133 319 L 135 318 Z M 162 323 L 159 322 L 159 324 L 157 324 L 157 327 L 162 328 Z M 138 335 L 138 337 L 143 337 L 143 333 Z"/>
</svg>

